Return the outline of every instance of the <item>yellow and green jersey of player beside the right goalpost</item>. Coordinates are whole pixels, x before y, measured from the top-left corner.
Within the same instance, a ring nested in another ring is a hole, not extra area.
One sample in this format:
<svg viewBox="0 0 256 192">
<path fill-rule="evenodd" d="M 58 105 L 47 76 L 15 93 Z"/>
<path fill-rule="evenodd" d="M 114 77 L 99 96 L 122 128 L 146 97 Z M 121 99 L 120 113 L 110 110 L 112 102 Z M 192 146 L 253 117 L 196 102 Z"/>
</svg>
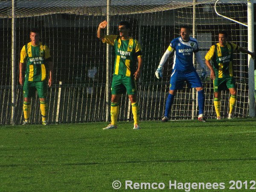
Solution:
<svg viewBox="0 0 256 192">
<path fill-rule="evenodd" d="M 212 60 L 216 78 L 233 77 L 233 52 L 237 49 L 239 47 L 230 42 L 227 42 L 224 47 L 221 47 L 219 43 L 212 45 L 205 59 Z"/>
</svg>

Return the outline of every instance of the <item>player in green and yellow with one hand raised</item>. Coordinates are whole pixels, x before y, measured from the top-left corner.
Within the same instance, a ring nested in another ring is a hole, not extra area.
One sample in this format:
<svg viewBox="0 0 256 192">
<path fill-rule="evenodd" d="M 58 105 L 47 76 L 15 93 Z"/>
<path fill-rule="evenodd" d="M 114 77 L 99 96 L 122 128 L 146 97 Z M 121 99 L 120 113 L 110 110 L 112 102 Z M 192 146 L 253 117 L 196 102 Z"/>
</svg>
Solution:
<svg viewBox="0 0 256 192">
<path fill-rule="evenodd" d="M 135 80 L 139 79 L 143 65 L 141 47 L 136 39 L 129 36 L 130 23 L 127 21 L 118 23 L 119 35 L 104 35 L 102 29 L 105 29 L 107 24 L 107 21 L 103 21 L 99 24 L 97 37 L 101 38 L 103 43 L 110 44 L 114 47 L 116 57 L 111 85 L 111 123 L 103 129 L 117 128 L 119 98 L 122 93 L 125 93 L 125 90 L 131 101 L 134 116 L 133 129 L 140 129 L 140 108 L 137 102 Z"/>
</svg>

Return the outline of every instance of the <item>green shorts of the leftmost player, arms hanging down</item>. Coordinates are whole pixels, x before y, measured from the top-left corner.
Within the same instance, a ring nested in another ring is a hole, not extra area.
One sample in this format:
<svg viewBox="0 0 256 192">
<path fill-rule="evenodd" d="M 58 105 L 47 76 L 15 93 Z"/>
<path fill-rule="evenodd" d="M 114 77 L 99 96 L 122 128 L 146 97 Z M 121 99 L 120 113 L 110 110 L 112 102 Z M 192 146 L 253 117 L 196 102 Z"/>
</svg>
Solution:
<svg viewBox="0 0 256 192">
<path fill-rule="evenodd" d="M 37 90 L 38 97 L 46 99 L 47 96 L 47 83 L 46 81 L 24 81 L 23 97 L 31 98 L 35 96 Z"/>
</svg>

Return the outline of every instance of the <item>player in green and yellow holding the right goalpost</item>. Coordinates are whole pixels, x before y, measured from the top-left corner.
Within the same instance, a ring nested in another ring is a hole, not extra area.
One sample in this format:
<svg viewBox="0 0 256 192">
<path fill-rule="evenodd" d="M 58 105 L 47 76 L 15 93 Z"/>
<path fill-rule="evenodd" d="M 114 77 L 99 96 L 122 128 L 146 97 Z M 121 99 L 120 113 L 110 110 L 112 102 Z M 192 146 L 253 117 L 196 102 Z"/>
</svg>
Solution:
<svg viewBox="0 0 256 192">
<path fill-rule="evenodd" d="M 243 47 L 238 47 L 236 44 L 228 42 L 227 31 L 219 31 L 219 42 L 209 49 L 205 55 L 205 64 L 211 70 L 210 78 L 213 80 L 214 88 L 214 106 L 217 114 L 217 119 L 221 119 L 221 101 L 219 99 L 219 91 L 230 91 L 230 109 L 228 112 L 228 119 L 232 118 L 232 111 L 236 104 L 236 82 L 233 77 L 233 52 L 240 51 L 250 54 L 252 58 L 255 56 L 255 52 L 250 52 Z M 210 64 L 212 60 L 212 65 Z"/>
</svg>

